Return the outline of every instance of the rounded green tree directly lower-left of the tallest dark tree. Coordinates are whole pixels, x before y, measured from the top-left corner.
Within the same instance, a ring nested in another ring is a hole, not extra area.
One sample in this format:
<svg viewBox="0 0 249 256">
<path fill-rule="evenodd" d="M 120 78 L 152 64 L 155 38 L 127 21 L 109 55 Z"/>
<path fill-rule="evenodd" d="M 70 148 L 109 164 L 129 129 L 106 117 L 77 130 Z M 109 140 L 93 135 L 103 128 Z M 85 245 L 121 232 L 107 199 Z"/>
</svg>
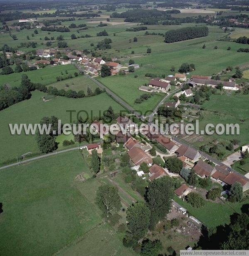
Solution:
<svg viewBox="0 0 249 256">
<path fill-rule="evenodd" d="M 142 238 L 149 229 L 150 210 L 143 202 L 129 206 L 126 212 L 127 227 L 134 239 Z"/>
</svg>

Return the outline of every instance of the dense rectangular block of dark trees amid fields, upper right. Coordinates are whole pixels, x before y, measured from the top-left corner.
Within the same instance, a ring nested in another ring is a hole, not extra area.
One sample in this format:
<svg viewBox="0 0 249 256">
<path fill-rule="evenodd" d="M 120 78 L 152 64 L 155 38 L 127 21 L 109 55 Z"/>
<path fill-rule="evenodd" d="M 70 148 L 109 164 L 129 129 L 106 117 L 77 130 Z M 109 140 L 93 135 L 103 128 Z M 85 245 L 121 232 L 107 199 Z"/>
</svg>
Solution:
<svg viewBox="0 0 249 256">
<path fill-rule="evenodd" d="M 189 40 L 197 37 L 205 37 L 208 35 L 208 28 L 201 27 L 184 27 L 176 30 L 169 30 L 165 33 L 166 43 Z"/>
</svg>

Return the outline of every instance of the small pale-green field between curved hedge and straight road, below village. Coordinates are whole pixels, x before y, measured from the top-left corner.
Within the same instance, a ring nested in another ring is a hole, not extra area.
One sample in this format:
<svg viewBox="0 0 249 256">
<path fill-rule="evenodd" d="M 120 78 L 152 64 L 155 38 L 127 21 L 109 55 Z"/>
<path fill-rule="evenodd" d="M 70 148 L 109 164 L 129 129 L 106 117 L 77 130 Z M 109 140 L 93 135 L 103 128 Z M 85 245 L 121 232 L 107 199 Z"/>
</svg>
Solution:
<svg viewBox="0 0 249 256">
<path fill-rule="evenodd" d="M 92 91 L 94 91 L 98 87 L 95 82 L 85 76 L 73 77 L 71 79 L 49 84 L 49 86 L 56 87 L 58 90 L 64 89 L 66 91 L 69 89 L 76 92 L 83 90 L 85 94 L 87 93 L 88 87 L 91 88 Z"/>
</svg>

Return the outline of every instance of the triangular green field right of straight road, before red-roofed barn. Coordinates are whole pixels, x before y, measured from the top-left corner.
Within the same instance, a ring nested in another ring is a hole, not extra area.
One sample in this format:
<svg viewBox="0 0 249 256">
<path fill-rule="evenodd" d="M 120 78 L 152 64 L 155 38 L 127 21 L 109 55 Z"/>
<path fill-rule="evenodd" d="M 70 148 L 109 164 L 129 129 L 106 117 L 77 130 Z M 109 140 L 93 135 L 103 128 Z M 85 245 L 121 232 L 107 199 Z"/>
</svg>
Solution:
<svg viewBox="0 0 249 256">
<path fill-rule="evenodd" d="M 130 106 L 134 107 L 134 109 L 142 111 L 143 114 L 145 111 L 153 111 L 161 99 L 166 96 L 164 93 L 160 95 L 155 94 L 142 103 L 134 103 L 135 99 L 146 93 L 140 91 L 138 87 L 149 82 L 148 78 L 135 78 L 134 73 L 125 76 L 98 77 L 98 80 L 112 90 L 112 92 L 124 99 Z"/>
</svg>

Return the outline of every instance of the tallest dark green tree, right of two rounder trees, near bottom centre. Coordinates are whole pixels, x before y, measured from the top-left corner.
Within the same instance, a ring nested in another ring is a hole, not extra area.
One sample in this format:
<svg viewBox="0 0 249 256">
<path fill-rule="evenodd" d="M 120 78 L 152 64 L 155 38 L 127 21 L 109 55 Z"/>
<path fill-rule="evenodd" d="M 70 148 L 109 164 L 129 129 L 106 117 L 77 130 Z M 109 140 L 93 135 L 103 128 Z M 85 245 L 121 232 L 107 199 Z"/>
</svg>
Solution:
<svg viewBox="0 0 249 256">
<path fill-rule="evenodd" d="M 163 176 L 149 183 L 146 201 L 151 211 L 150 229 L 154 229 L 156 223 L 166 217 L 172 198 L 173 182 L 170 177 Z"/>
</svg>

